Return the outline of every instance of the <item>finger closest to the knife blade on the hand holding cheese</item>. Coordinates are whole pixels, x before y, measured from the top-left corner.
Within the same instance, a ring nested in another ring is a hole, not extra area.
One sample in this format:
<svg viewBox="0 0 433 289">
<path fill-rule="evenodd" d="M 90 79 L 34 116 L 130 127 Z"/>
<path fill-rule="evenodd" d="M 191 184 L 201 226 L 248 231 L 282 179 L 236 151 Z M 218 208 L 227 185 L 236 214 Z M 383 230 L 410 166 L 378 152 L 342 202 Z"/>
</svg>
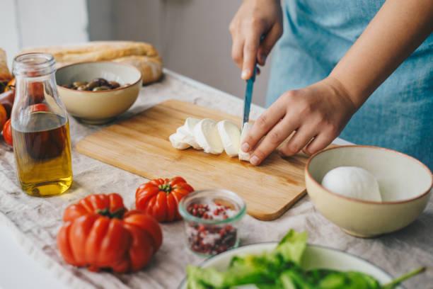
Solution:
<svg viewBox="0 0 433 289">
<path fill-rule="evenodd" d="M 280 100 L 275 101 L 270 108 L 267 108 L 255 121 L 253 128 L 250 129 L 241 143 L 243 152 L 250 152 L 258 141 L 284 117 L 285 113 L 286 106 Z"/>
</svg>

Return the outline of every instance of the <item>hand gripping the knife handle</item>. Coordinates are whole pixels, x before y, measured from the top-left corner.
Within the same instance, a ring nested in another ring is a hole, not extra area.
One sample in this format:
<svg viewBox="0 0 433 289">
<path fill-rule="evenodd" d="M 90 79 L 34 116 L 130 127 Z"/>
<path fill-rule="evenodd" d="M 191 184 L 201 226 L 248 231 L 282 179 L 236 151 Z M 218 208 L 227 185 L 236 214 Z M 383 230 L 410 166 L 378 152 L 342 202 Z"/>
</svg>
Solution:
<svg viewBox="0 0 433 289">
<path fill-rule="evenodd" d="M 233 39 L 231 57 L 241 69 L 242 79 L 247 80 L 253 74 L 255 61 L 265 65 L 267 55 L 282 35 L 279 0 L 243 1 L 229 30 Z"/>
</svg>

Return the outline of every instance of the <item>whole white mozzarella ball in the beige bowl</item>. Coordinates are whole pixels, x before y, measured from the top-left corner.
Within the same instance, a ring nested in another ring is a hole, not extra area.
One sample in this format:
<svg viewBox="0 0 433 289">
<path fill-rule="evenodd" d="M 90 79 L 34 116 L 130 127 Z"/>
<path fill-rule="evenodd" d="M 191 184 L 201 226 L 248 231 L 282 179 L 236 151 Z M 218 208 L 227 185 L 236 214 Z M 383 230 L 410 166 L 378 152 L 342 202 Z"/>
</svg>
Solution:
<svg viewBox="0 0 433 289">
<path fill-rule="evenodd" d="M 342 196 L 359 200 L 381 202 L 381 192 L 376 177 L 357 166 L 338 166 L 325 174 L 322 186 Z"/>
</svg>

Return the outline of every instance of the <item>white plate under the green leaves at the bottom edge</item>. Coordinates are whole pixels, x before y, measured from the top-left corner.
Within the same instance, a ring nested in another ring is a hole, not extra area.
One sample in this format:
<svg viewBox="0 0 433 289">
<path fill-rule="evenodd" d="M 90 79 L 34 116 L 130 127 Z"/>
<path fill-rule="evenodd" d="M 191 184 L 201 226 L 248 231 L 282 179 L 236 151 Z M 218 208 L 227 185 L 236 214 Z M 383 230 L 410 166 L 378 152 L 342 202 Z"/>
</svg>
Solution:
<svg viewBox="0 0 433 289">
<path fill-rule="evenodd" d="M 277 246 L 276 242 L 273 243 L 260 243 L 251 244 L 247 246 L 241 246 L 236 249 L 225 251 L 224 253 L 213 256 L 201 263 L 200 267 L 207 268 L 213 267 L 217 270 L 224 270 L 229 266 L 231 257 L 238 255 L 242 256 L 245 254 L 260 254 L 263 251 L 270 251 Z M 391 282 L 393 277 L 383 271 L 381 268 L 373 265 L 369 261 L 361 259 L 352 254 L 339 251 L 337 249 L 331 249 L 324 246 L 310 245 L 308 244 L 304 256 L 302 258 L 302 267 L 306 270 L 313 268 L 328 268 L 339 271 L 358 271 L 361 273 L 369 274 L 376 278 L 381 284 Z M 180 283 L 178 289 L 186 289 L 186 278 Z M 246 288 L 246 286 L 243 286 Z M 248 288 L 251 288 L 248 286 Z M 253 286 L 255 288 L 255 286 Z M 398 286 L 397 289 L 404 289 L 403 286 Z"/>
</svg>

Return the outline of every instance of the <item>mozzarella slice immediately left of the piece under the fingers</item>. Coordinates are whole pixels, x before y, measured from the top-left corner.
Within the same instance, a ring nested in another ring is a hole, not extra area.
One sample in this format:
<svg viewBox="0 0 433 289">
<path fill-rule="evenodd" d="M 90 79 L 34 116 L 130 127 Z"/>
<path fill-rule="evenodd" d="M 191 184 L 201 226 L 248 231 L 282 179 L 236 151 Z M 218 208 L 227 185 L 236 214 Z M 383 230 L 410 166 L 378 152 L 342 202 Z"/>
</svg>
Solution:
<svg viewBox="0 0 433 289">
<path fill-rule="evenodd" d="M 241 142 L 241 130 L 230 120 L 221 120 L 217 123 L 217 128 L 226 154 L 229 157 L 236 157 Z"/>
</svg>

